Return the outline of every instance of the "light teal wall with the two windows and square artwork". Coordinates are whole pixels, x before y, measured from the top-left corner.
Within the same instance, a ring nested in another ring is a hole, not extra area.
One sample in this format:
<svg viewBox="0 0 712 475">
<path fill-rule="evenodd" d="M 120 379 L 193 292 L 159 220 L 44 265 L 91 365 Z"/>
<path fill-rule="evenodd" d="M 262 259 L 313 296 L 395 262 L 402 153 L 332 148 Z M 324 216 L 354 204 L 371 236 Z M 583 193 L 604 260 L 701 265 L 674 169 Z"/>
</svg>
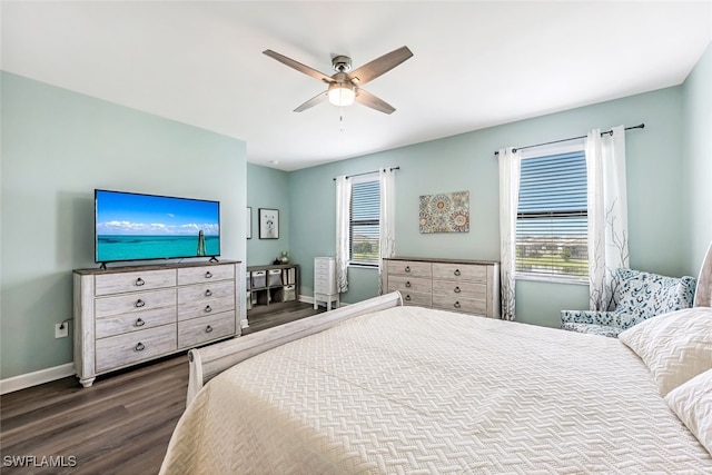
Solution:
<svg viewBox="0 0 712 475">
<path fill-rule="evenodd" d="M 683 197 L 682 88 L 674 87 L 439 140 L 294 171 L 291 248 L 304 266 L 303 294 L 313 286 L 310 259 L 334 255 L 334 181 L 337 175 L 399 166 L 396 176 L 396 254 L 498 259 L 498 168 L 494 150 L 585 135 L 593 128 L 645 122 L 626 136 L 631 266 L 681 275 Z M 471 231 L 423 235 L 418 197 L 469 190 Z M 377 273 L 349 269 L 344 301 L 377 293 Z M 562 308 L 587 308 L 587 287 L 517 281 L 517 319 L 558 326 Z"/>
</svg>

